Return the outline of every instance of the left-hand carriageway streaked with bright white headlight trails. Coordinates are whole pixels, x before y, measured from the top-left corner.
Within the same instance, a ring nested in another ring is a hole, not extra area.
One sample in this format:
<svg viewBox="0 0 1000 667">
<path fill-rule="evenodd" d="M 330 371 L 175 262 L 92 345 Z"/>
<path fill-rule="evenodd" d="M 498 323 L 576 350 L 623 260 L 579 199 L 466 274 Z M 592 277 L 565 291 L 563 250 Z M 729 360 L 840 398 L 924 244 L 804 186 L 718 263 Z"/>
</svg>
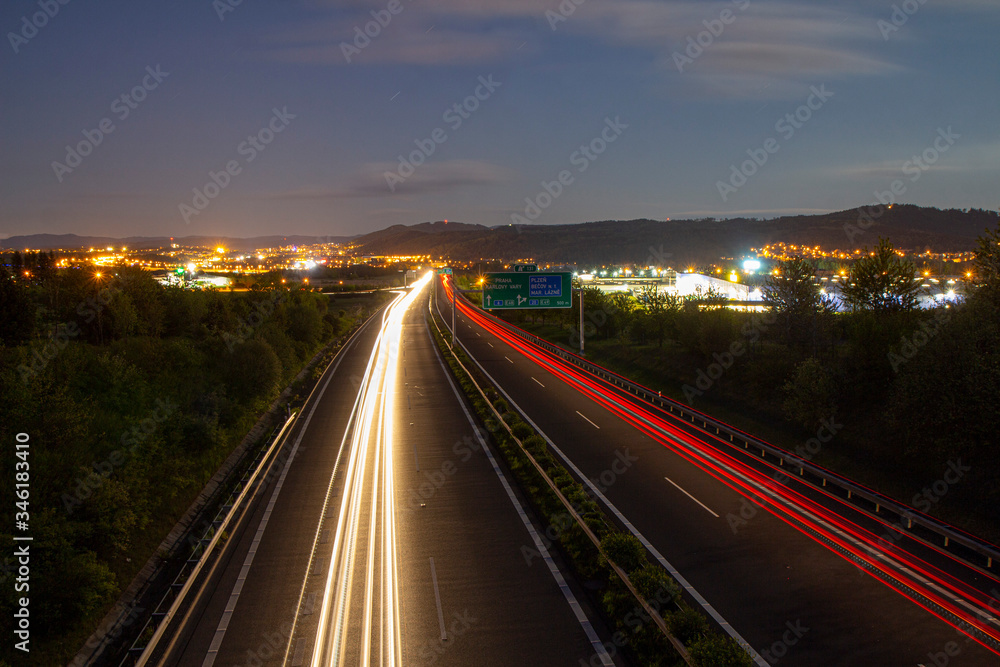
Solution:
<svg viewBox="0 0 1000 667">
<path fill-rule="evenodd" d="M 149 664 L 621 664 L 459 399 L 429 280 L 327 369 Z"/>
</svg>

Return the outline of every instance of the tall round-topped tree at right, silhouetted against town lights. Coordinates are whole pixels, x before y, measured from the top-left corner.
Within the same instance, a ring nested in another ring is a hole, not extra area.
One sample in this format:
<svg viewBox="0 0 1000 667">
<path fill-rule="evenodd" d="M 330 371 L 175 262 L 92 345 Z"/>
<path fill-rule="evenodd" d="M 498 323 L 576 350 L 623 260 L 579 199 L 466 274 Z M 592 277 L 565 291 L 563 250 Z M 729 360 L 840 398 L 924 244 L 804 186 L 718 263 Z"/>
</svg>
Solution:
<svg viewBox="0 0 1000 667">
<path fill-rule="evenodd" d="M 893 313 L 914 310 L 921 287 L 913 263 L 882 238 L 873 251 L 854 263 L 840 291 L 854 310 Z"/>
</svg>

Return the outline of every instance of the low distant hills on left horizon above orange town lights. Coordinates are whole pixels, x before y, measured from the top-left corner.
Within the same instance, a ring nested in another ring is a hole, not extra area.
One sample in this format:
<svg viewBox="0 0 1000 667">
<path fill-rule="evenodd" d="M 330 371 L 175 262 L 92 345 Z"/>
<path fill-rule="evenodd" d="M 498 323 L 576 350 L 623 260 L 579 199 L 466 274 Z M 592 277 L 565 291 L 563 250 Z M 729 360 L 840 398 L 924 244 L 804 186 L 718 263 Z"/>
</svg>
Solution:
<svg viewBox="0 0 1000 667">
<path fill-rule="evenodd" d="M 214 247 L 222 246 L 233 250 L 254 250 L 284 245 L 309 245 L 312 243 L 346 243 L 353 236 L 253 236 L 236 238 L 230 236 L 178 236 L 173 243 L 182 246 Z M 78 236 L 76 234 L 27 234 L 0 239 L 0 248 L 6 250 L 77 250 L 79 248 L 103 248 L 107 246 L 128 246 L 129 248 L 158 248 L 169 244 L 169 236 L 129 236 L 113 238 L 109 236 Z"/>
</svg>

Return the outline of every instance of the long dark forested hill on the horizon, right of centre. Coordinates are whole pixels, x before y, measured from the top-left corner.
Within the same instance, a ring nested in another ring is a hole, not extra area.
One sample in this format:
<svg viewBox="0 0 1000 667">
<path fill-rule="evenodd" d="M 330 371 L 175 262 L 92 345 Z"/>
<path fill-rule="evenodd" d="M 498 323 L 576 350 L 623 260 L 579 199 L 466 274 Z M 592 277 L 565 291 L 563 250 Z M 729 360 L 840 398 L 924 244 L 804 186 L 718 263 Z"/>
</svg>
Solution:
<svg viewBox="0 0 1000 667">
<path fill-rule="evenodd" d="M 681 265 L 707 263 L 745 254 L 750 248 L 783 241 L 853 250 L 875 245 L 879 236 L 907 250 L 959 252 L 975 247 L 983 230 L 994 228 L 997 213 L 972 209 L 939 210 L 897 204 L 878 219 L 865 209 L 771 220 L 605 220 L 574 225 L 483 227 L 450 222 L 396 225 L 355 238 L 365 254 L 421 254 L 475 261 L 533 258 L 539 262 Z M 876 211 L 872 211 L 875 214 Z"/>
</svg>

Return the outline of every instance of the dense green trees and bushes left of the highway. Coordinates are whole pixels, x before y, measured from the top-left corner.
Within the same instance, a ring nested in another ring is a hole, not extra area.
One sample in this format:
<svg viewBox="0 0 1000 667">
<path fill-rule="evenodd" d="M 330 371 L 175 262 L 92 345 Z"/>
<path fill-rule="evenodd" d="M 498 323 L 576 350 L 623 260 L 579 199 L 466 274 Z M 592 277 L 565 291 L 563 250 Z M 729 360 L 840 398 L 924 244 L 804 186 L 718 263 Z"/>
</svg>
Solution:
<svg viewBox="0 0 1000 667">
<path fill-rule="evenodd" d="M 31 655 L 65 664 L 282 389 L 380 297 L 331 298 L 280 276 L 189 291 L 127 267 L 18 260 L 16 277 L 0 267 L 3 469 L 27 433 Z M 13 485 L 2 489 L 11 507 Z"/>
</svg>

